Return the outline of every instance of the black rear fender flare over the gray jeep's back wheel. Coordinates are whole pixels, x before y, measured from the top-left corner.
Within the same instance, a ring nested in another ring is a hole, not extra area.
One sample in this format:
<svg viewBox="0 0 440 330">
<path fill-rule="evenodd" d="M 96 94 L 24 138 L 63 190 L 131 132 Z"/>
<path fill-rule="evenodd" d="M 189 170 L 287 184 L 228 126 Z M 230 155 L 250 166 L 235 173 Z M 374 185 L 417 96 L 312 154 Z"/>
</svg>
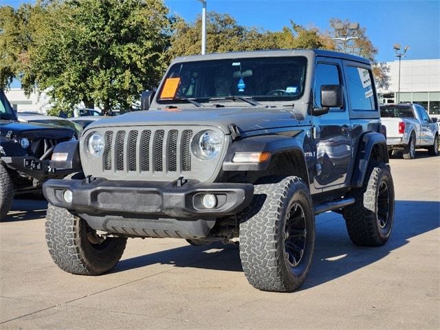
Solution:
<svg viewBox="0 0 440 330">
<path fill-rule="evenodd" d="M 382 133 L 368 132 L 360 137 L 358 144 L 358 153 L 353 166 L 353 175 L 351 176 L 351 186 L 355 188 L 362 187 L 364 183 L 366 168 L 371 159 L 377 162 L 388 164 L 388 147 L 386 139 Z"/>
</svg>

